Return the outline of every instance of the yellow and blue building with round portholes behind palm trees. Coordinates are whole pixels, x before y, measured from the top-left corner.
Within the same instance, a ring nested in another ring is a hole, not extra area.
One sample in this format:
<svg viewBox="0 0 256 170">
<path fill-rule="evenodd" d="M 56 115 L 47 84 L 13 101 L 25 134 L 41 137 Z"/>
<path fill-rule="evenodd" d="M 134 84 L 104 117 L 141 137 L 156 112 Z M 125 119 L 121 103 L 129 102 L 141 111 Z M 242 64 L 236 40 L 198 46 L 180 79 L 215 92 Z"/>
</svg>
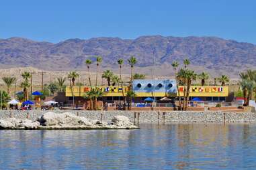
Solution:
<svg viewBox="0 0 256 170">
<path fill-rule="evenodd" d="M 136 93 L 133 102 L 141 102 L 144 98 L 151 97 L 156 101 L 167 96 L 169 98 L 177 97 L 177 84 L 175 80 L 134 80 L 132 88 Z M 99 100 L 103 102 L 122 101 L 122 87 L 121 86 L 99 86 L 102 90 L 103 96 Z M 183 96 L 183 86 L 179 86 L 179 94 Z M 73 88 L 67 86 L 65 96 L 68 99 L 67 103 L 85 102 L 86 92 L 90 88 L 88 86 L 74 86 Z M 124 86 L 124 95 L 128 91 L 128 86 Z M 192 100 L 198 97 L 203 101 L 225 102 L 229 96 L 228 86 L 191 86 L 189 97 Z"/>
</svg>

